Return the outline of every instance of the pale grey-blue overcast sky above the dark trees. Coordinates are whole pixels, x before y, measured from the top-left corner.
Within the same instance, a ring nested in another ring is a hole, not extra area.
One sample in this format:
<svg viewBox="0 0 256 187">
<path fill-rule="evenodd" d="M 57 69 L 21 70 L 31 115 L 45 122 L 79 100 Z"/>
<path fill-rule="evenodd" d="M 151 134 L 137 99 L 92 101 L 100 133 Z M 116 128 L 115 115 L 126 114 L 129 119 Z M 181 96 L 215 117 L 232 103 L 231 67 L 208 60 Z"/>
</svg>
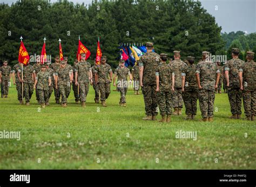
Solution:
<svg viewBox="0 0 256 187">
<path fill-rule="evenodd" d="M 57 0 L 51 0 L 56 2 Z M 221 32 L 256 32 L 256 0 L 199 0 L 204 8 L 215 17 Z M 0 0 L 11 4 L 16 0 Z M 74 3 L 90 4 L 92 0 L 72 0 Z"/>
</svg>

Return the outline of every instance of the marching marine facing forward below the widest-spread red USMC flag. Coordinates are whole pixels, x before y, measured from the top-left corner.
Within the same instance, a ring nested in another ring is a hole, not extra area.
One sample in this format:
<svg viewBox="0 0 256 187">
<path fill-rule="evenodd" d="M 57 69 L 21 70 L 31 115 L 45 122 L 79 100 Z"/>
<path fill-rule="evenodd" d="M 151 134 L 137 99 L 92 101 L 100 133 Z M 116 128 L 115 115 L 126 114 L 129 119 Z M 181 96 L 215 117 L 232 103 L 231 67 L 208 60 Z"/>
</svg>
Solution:
<svg viewBox="0 0 256 187">
<path fill-rule="evenodd" d="M 82 60 L 75 67 L 75 81 L 79 85 L 79 98 L 82 107 L 85 107 L 86 96 L 89 92 L 89 83 L 92 84 L 91 64 L 85 61 L 85 53 L 81 54 Z"/>
</svg>

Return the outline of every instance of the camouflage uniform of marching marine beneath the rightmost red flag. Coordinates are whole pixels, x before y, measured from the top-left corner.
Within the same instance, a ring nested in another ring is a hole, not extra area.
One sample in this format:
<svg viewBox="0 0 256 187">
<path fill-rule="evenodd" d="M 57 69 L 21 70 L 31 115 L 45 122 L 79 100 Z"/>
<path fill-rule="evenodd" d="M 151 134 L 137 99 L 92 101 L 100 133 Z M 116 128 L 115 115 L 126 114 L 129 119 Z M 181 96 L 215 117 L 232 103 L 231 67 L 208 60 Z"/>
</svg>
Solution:
<svg viewBox="0 0 256 187">
<path fill-rule="evenodd" d="M 110 95 L 110 79 L 109 73 L 112 69 L 109 64 L 100 64 L 95 68 L 95 73 L 98 74 L 98 87 L 100 91 L 100 101 L 106 100 Z"/>
</svg>

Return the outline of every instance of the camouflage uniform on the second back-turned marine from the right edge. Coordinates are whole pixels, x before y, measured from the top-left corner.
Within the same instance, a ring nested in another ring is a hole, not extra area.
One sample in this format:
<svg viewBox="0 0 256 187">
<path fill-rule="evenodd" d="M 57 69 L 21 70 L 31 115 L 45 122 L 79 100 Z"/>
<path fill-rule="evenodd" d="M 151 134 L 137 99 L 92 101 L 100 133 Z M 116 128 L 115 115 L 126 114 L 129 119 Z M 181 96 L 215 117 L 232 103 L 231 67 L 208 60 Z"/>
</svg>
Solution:
<svg viewBox="0 0 256 187">
<path fill-rule="evenodd" d="M 230 86 L 227 87 L 228 100 L 230 101 L 231 113 L 241 114 L 242 106 L 242 91 L 239 86 L 238 70 L 245 62 L 235 58 L 227 61 L 225 64 L 225 71 L 228 71 L 228 76 L 230 80 Z"/>
</svg>

